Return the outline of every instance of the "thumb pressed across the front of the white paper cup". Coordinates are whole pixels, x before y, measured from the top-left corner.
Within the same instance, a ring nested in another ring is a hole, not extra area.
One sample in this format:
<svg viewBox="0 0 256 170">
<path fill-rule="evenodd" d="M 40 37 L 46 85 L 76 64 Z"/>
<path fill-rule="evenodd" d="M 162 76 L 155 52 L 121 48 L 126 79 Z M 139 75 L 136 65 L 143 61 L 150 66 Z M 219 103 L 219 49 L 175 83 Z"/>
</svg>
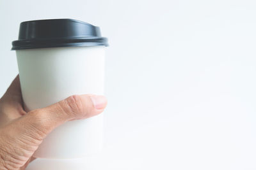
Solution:
<svg viewBox="0 0 256 170">
<path fill-rule="evenodd" d="M 35 138 L 43 139 L 55 127 L 69 120 L 89 118 L 101 113 L 106 107 L 104 96 L 75 95 L 46 108 L 29 111 L 19 120 L 13 122 L 19 127 L 20 134 L 29 133 Z"/>
</svg>

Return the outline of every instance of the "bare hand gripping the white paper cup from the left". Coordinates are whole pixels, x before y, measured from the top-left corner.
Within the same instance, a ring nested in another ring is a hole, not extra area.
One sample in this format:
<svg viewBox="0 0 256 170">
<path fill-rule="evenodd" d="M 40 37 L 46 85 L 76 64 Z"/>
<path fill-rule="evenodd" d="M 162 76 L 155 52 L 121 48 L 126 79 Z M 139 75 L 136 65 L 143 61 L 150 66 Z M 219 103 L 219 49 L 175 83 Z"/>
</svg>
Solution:
<svg viewBox="0 0 256 170">
<path fill-rule="evenodd" d="M 102 113 L 104 96 L 75 95 L 46 108 L 26 113 L 22 106 L 19 76 L 0 99 L 0 169 L 25 169 L 33 153 L 54 128 Z"/>
</svg>

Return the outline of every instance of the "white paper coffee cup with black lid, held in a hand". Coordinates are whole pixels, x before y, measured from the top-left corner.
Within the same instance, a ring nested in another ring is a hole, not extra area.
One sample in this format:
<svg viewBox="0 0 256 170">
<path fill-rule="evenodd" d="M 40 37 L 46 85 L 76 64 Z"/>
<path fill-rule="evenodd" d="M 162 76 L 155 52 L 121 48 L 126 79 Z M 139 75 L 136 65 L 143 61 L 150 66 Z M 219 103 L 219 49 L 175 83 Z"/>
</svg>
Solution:
<svg viewBox="0 0 256 170">
<path fill-rule="evenodd" d="M 99 27 L 72 19 L 20 24 L 13 41 L 26 111 L 44 108 L 74 94 L 104 94 L 107 39 Z M 103 114 L 66 122 L 54 129 L 34 157 L 67 159 L 100 152 Z"/>
</svg>

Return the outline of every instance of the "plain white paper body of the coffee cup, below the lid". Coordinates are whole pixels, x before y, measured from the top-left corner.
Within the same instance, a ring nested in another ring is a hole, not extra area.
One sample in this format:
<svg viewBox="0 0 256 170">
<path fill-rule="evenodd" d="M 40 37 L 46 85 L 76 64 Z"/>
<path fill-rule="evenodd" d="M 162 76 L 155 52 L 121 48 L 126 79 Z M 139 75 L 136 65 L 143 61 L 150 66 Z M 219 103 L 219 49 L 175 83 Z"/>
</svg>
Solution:
<svg viewBox="0 0 256 170">
<path fill-rule="evenodd" d="M 44 108 L 75 94 L 104 94 L 105 46 L 16 50 L 26 111 Z M 52 113 L 55 114 L 55 113 Z M 100 152 L 103 113 L 54 129 L 34 157 L 67 159 Z"/>
</svg>

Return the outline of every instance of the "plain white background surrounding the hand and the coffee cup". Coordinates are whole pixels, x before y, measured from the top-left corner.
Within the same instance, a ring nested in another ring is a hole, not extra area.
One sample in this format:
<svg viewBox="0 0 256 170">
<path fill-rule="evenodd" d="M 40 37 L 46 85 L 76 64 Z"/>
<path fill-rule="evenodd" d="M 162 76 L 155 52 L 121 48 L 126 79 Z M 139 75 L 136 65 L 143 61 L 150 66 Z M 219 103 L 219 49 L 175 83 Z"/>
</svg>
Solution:
<svg viewBox="0 0 256 170">
<path fill-rule="evenodd" d="M 256 169 L 254 2 L 1 0 L 0 95 L 20 22 L 83 20 L 110 45 L 104 155 L 89 169 Z"/>
</svg>

